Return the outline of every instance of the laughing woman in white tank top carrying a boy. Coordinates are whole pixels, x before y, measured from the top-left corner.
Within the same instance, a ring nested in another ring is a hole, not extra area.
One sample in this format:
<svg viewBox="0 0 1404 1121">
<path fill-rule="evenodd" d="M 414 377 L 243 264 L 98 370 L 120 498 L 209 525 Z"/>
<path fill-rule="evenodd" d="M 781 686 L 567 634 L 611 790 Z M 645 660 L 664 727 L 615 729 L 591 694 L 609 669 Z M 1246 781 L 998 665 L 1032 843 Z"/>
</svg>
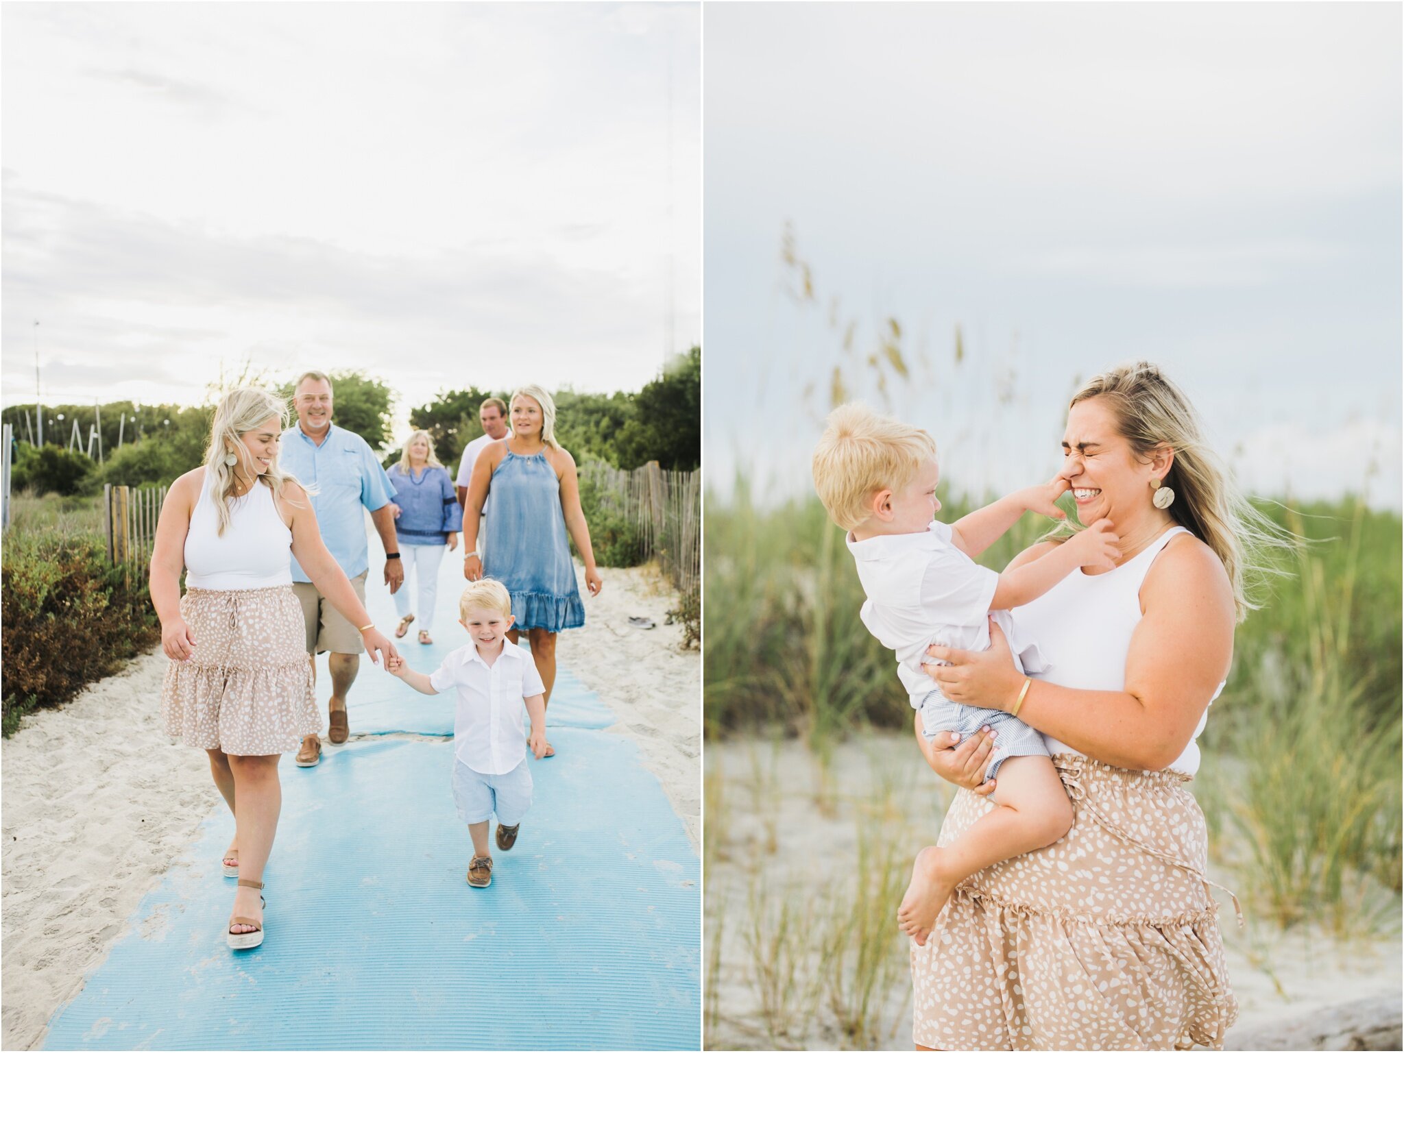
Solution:
<svg viewBox="0 0 1404 1121">
<path fill-rule="evenodd" d="M 1184 396 L 1148 363 L 1073 400 L 1061 474 L 1084 525 L 1108 518 L 1122 560 L 1074 571 L 1018 609 L 1050 668 L 1026 679 L 998 629 L 991 647 L 932 647 L 951 700 L 1009 710 L 1040 731 L 1073 801 L 1057 843 L 966 880 L 924 947 L 913 944 L 913 1038 L 931 1049 L 1220 1047 L 1237 1016 L 1203 815 L 1186 788 L 1195 738 L 1228 672 L 1244 544 L 1271 530 L 1199 436 Z M 1043 542 L 1016 557 L 1026 564 Z M 1025 692 L 1026 689 L 1026 692 Z M 962 787 L 948 845 L 988 810 L 988 744 L 918 741 Z M 1237 899 L 1234 899 L 1237 908 Z"/>
</svg>

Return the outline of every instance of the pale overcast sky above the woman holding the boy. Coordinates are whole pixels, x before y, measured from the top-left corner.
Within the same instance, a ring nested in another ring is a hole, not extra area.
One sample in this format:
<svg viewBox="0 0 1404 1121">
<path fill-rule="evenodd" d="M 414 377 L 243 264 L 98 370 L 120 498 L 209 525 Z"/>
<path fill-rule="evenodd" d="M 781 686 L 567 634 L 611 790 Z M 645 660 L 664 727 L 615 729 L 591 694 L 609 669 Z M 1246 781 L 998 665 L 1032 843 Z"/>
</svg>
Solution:
<svg viewBox="0 0 1404 1121">
<path fill-rule="evenodd" d="M 1398 508 L 1400 39 L 1398 4 L 709 6 L 709 480 L 810 485 L 838 297 L 859 355 L 886 316 L 924 355 L 889 405 L 956 491 L 1052 474 L 1075 380 L 1148 358 L 1250 488 L 1375 463 Z"/>
</svg>

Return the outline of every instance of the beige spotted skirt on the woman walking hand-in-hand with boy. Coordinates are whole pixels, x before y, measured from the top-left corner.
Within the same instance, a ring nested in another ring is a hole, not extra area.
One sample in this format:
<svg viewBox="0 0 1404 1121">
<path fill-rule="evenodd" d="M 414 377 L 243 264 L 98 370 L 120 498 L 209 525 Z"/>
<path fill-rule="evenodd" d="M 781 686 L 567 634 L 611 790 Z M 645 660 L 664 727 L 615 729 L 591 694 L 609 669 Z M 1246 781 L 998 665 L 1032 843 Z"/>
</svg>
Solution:
<svg viewBox="0 0 1404 1121">
<path fill-rule="evenodd" d="M 195 638 L 161 687 L 166 731 L 225 755 L 279 755 L 322 730 L 292 585 L 239 592 L 191 588 L 180 613 Z"/>
</svg>

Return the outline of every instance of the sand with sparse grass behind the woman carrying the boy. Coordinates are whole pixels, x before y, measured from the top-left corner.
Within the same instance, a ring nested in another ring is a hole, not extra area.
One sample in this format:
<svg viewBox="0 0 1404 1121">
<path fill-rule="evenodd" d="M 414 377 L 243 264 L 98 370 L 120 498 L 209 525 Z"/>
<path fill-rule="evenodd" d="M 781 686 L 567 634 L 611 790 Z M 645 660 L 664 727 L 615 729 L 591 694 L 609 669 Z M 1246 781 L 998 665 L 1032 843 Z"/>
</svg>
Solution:
<svg viewBox="0 0 1404 1121">
<path fill-rule="evenodd" d="M 748 941 L 754 939 L 750 927 L 757 913 L 751 887 L 764 884 L 758 895 L 769 897 L 775 906 L 788 895 L 796 908 L 820 899 L 835 885 L 842 888 L 845 878 L 854 878 L 859 812 L 870 810 L 875 791 L 883 788 L 890 791 L 886 828 L 903 838 L 914 856 L 920 845 L 935 840 L 951 788 L 927 769 L 911 739 L 903 737 L 876 737 L 835 748 L 831 812 L 821 812 L 814 798 L 819 770 L 813 756 L 792 741 L 709 742 L 706 773 L 713 787 L 708 794 L 705 908 L 709 962 L 715 916 L 724 911 L 716 986 L 720 1014 L 715 1026 L 708 1024 L 708 1047 L 854 1045 L 834 1024 L 824 1000 L 812 1017 L 792 1017 L 789 1038 L 775 1040 L 767 1031 L 757 1000 L 755 953 Z M 922 821 L 929 822 L 928 828 L 922 828 Z M 1233 887 L 1238 873 L 1212 867 L 1210 875 Z M 1380 895 L 1377 902 L 1397 915 L 1398 899 L 1384 891 Z M 1382 932 L 1342 941 L 1307 927 L 1283 933 L 1266 919 L 1250 915 L 1247 929 L 1240 932 L 1228 901 L 1217 894 L 1216 898 L 1228 976 L 1241 1006 L 1230 1041 L 1236 1034 L 1316 1007 L 1366 996 L 1398 996 L 1404 944 L 1397 926 L 1390 929 L 1384 922 Z M 900 936 L 894 937 L 900 941 Z M 802 975 L 807 972 L 803 969 Z M 802 988 L 795 986 L 796 1003 Z M 903 968 L 878 1002 L 880 1012 L 875 1020 L 882 1049 L 911 1048 L 910 993 L 910 974 Z"/>
</svg>

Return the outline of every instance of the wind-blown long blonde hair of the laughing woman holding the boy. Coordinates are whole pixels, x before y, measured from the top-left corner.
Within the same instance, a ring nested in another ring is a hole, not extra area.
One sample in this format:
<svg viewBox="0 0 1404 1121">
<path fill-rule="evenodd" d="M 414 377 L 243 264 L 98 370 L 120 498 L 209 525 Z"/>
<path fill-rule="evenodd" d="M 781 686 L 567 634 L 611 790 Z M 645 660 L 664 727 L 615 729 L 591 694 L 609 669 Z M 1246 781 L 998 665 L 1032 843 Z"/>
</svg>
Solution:
<svg viewBox="0 0 1404 1121">
<path fill-rule="evenodd" d="M 1164 484 L 1175 492 L 1175 501 L 1165 512 L 1223 563 L 1241 623 L 1248 612 L 1262 606 L 1257 591 L 1265 579 L 1282 575 L 1265 561 L 1268 550 L 1293 547 L 1300 540 L 1273 525 L 1244 497 L 1205 441 L 1189 398 L 1155 365 L 1136 362 L 1094 377 L 1074 394 L 1068 408 L 1094 397 L 1111 410 L 1118 431 L 1139 459 L 1150 459 L 1160 446 L 1174 450 Z M 1060 526 L 1053 536 L 1071 532 L 1071 526 Z"/>
</svg>

